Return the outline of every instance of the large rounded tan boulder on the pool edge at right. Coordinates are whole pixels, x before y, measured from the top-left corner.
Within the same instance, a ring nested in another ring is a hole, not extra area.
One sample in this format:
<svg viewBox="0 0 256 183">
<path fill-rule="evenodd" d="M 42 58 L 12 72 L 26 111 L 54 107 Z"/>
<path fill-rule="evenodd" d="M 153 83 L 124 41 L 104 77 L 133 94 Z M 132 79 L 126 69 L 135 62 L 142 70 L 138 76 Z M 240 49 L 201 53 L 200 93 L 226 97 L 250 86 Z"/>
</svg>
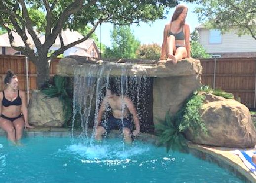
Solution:
<svg viewBox="0 0 256 183">
<path fill-rule="evenodd" d="M 245 105 L 233 99 L 206 94 L 200 113 L 208 134 L 200 132 L 196 136 L 189 129 L 185 133 L 188 140 L 198 144 L 228 148 L 255 146 L 256 128 Z"/>
</svg>

